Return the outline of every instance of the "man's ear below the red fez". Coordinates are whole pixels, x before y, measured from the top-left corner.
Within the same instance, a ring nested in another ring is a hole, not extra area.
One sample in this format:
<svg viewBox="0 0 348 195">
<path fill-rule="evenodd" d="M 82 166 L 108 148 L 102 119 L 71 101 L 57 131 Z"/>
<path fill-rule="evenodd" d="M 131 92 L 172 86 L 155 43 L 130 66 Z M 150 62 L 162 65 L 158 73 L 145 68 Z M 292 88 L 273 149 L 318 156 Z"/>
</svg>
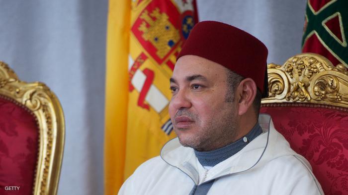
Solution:
<svg viewBox="0 0 348 195">
<path fill-rule="evenodd" d="M 256 83 L 251 78 L 242 80 L 236 90 L 238 96 L 238 115 L 245 114 L 252 106 L 257 93 Z"/>
</svg>

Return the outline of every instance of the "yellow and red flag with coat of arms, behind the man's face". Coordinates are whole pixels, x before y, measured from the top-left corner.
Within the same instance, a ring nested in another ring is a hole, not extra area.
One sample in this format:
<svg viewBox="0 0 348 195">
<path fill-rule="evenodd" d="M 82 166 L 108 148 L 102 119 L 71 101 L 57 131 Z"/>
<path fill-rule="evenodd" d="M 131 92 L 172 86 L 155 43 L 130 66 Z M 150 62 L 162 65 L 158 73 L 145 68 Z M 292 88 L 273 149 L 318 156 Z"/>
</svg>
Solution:
<svg viewBox="0 0 348 195">
<path fill-rule="evenodd" d="M 174 138 L 168 105 L 175 56 L 197 21 L 194 0 L 110 0 L 104 177 L 114 195 Z"/>
</svg>

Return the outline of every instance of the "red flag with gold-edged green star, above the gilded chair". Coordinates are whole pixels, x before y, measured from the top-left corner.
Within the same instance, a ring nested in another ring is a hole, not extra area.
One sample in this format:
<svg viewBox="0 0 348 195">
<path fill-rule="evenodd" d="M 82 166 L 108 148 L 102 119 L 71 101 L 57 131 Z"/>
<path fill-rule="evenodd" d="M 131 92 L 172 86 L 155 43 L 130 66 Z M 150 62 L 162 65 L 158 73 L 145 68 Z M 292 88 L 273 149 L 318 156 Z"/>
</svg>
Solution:
<svg viewBox="0 0 348 195">
<path fill-rule="evenodd" d="M 302 52 L 348 67 L 348 0 L 308 0 Z"/>
</svg>

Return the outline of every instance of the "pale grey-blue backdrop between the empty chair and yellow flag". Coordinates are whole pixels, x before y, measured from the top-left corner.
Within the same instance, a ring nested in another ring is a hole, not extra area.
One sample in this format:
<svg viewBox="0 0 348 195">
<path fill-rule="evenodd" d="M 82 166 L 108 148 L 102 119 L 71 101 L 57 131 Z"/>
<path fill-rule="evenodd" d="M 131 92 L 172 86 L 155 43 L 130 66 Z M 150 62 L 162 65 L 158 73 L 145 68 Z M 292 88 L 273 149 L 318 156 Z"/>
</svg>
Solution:
<svg viewBox="0 0 348 195">
<path fill-rule="evenodd" d="M 0 60 L 46 83 L 66 122 L 59 195 L 103 193 L 107 0 L 0 0 Z"/>
</svg>

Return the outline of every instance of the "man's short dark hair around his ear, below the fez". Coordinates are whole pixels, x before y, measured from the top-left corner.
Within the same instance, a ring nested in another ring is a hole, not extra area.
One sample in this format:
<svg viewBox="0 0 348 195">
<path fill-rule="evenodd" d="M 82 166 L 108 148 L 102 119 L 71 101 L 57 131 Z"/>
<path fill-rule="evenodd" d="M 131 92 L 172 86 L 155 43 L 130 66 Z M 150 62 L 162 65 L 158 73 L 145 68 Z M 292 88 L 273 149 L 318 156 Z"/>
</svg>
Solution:
<svg viewBox="0 0 348 195">
<path fill-rule="evenodd" d="M 225 95 L 225 101 L 226 102 L 232 102 L 235 99 L 235 90 L 237 88 L 237 86 L 239 85 L 239 83 L 245 79 L 244 77 L 242 77 L 241 75 L 231 71 L 231 70 L 227 70 L 227 93 Z M 256 96 L 253 102 L 253 106 L 254 106 L 254 110 L 255 110 L 255 114 L 258 117 L 259 112 L 260 112 L 260 107 L 261 107 L 261 91 L 259 89 L 257 89 L 256 92 Z"/>
</svg>

